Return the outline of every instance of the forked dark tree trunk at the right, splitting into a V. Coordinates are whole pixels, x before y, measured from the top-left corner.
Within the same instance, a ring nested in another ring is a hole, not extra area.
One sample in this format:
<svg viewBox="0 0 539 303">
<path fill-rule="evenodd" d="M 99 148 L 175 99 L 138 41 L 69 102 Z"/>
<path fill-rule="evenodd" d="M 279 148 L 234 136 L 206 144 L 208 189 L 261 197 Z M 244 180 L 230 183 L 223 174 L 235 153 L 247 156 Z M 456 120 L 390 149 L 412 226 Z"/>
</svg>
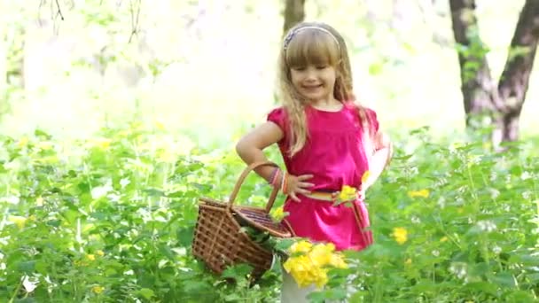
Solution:
<svg viewBox="0 0 539 303">
<path fill-rule="evenodd" d="M 495 146 L 519 137 L 519 116 L 526 98 L 537 40 L 539 39 L 539 0 L 526 0 L 512 37 L 504 73 L 496 85 L 488 67 L 487 48 L 480 40 L 474 0 L 449 0 L 464 97 L 466 126 L 494 127 Z M 479 123 L 474 123 L 479 121 Z"/>
</svg>

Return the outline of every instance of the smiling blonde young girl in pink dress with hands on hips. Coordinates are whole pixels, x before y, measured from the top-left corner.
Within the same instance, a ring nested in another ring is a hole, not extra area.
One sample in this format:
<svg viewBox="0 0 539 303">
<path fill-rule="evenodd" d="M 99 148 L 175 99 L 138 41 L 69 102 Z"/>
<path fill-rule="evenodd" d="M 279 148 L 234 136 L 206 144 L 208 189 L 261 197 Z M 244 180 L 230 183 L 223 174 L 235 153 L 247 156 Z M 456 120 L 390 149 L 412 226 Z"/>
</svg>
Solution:
<svg viewBox="0 0 539 303">
<path fill-rule="evenodd" d="M 238 155 L 247 165 L 264 161 L 262 150 L 277 143 L 285 169 L 259 167 L 256 173 L 287 196 L 284 222 L 293 235 L 362 250 L 372 243 L 363 195 L 386 167 L 391 144 L 376 113 L 355 103 L 342 36 L 323 23 L 293 27 L 281 48 L 279 82 L 283 106 L 240 139 Z M 348 187 L 358 193 L 349 198 L 352 207 L 335 206 Z M 313 290 L 300 289 L 285 271 L 283 283 L 283 302 L 305 301 Z"/>
</svg>

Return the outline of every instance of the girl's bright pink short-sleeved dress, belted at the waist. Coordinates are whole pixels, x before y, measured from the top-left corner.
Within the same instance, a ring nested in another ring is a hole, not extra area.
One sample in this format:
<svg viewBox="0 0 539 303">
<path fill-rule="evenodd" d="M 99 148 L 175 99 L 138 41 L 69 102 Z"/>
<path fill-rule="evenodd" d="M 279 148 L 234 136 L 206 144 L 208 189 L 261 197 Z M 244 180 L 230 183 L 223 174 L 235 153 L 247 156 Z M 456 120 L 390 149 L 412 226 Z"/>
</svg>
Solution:
<svg viewBox="0 0 539 303">
<path fill-rule="evenodd" d="M 278 142 L 287 172 L 292 175 L 313 175 L 311 190 L 339 191 L 343 185 L 359 188 L 363 173 L 369 169 L 363 149 L 363 131 L 357 109 L 345 104 L 339 112 L 306 108 L 309 137 L 301 151 L 288 156 L 289 128 L 285 110 L 274 109 L 268 120 L 285 134 Z M 378 131 L 376 113 L 368 110 L 371 125 Z M 301 202 L 286 198 L 284 210 L 289 213 L 285 224 L 294 236 L 316 242 L 332 242 L 338 250 L 362 250 L 372 244 L 369 214 L 363 201 L 352 207 L 298 195 Z"/>
</svg>

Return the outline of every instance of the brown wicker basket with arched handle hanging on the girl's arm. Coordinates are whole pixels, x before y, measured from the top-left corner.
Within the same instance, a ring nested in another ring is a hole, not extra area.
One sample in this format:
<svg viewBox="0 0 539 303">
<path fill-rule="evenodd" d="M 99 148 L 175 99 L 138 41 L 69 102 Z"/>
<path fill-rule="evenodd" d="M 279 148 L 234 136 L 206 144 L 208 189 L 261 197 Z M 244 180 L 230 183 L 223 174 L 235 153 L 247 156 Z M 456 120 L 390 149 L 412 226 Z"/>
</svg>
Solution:
<svg viewBox="0 0 539 303">
<path fill-rule="evenodd" d="M 277 167 L 272 162 L 259 162 L 246 167 L 227 203 L 211 198 L 199 198 L 199 216 L 194 231 L 192 254 L 203 260 L 207 267 L 217 274 L 238 263 L 252 266 L 254 276 L 262 275 L 271 267 L 273 253 L 255 243 L 241 229 L 239 221 L 268 231 L 272 236 L 290 237 L 285 227 L 273 223 L 269 218 L 269 210 L 277 197 L 278 188 L 271 192 L 265 208 L 234 206 L 234 200 L 246 176 L 254 168 L 264 165 Z"/>
</svg>

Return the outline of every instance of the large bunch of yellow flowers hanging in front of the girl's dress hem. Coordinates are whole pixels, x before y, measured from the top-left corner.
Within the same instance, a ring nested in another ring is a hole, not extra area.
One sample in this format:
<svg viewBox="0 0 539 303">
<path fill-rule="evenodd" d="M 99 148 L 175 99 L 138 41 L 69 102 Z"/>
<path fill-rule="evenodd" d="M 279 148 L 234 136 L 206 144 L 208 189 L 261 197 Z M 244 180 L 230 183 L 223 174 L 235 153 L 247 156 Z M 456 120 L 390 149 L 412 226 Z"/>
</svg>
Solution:
<svg viewBox="0 0 539 303">
<path fill-rule="evenodd" d="M 316 284 L 321 288 L 327 284 L 330 268 L 348 268 L 342 254 L 335 252 L 335 245 L 331 243 L 313 245 L 301 240 L 290 246 L 289 253 L 283 267 L 300 287 Z"/>
</svg>

